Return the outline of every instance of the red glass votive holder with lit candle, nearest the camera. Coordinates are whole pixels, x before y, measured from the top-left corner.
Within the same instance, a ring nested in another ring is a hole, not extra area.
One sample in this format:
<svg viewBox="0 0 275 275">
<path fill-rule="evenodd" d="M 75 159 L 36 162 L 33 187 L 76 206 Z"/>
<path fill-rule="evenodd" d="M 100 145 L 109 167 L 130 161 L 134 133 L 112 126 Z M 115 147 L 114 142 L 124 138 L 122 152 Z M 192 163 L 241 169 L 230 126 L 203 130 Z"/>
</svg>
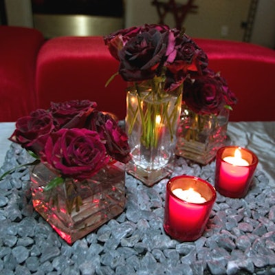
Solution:
<svg viewBox="0 0 275 275">
<path fill-rule="evenodd" d="M 216 199 L 214 187 L 199 177 L 173 177 L 166 185 L 164 230 L 179 241 L 203 234 Z"/>
</svg>

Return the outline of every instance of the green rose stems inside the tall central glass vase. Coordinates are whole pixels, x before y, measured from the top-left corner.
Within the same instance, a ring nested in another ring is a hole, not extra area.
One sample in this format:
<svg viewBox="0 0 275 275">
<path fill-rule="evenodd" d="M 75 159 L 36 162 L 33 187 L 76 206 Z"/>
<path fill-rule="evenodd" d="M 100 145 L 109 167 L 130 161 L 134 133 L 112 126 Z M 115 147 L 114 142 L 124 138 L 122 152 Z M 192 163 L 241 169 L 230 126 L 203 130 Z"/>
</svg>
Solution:
<svg viewBox="0 0 275 275">
<path fill-rule="evenodd" d="M 174 139 L 175 127 L 173 125 L 178 119 L 181 88 L 177 88 L 177 91 L 173 91 L 170 94 L 164 91 L 163 85 L 162 78 L 154 78 L 141 84 L 135 83 L 135 89 L 131 89 L 136 96 L 137 101 L 135 104 L 137 104 L 137 107 L 131 106 L 131 100 L 129 100 L 129 112 L 127 114 L 128 134 L 133 133 L 135 122 L 137 122 L 140 115 L 140 123 L 142 124 L 140 142 L 146 148 L 157 148 L 159 139 L 162 138 L 164 125 L 169 131 L 171 142 Z M 175 102 L 174 106 L 170 106 L 172 103 L 168 101 L 169 95 L 176 98 L 173 99 L 173 102 Z"/>
</svg>

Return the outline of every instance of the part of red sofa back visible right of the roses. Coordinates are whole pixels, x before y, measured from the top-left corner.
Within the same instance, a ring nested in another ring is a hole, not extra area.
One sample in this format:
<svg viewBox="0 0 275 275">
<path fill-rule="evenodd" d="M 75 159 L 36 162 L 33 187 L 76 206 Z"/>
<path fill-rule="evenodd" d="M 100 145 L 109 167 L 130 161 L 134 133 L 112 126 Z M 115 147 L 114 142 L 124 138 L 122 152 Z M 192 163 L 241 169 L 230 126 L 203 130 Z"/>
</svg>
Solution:
<svg viewBox="0 0 275 275">
<path fill-rule="evenodd" d="M 206 52 L 209 67 L 221 72 L 238 103 L 231 121 L 275 120 L 275 51 L 236 41 L 194 39 Z"/>
</svg>

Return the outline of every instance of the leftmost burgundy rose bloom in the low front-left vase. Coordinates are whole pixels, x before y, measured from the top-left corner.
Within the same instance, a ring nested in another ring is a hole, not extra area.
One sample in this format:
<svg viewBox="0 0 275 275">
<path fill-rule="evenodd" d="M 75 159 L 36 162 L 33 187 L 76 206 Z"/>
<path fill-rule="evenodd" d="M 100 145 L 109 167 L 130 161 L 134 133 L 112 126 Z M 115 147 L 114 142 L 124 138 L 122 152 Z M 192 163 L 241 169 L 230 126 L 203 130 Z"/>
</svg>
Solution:
<svg viewBox="0 0 275 275">
<path fill-rule="evenodd" d="M 44 109 L 38 109 L 17 120 L 16 129 L 9 140 L 21 144 L 36 155 L 43 148 L 47 135 L 54 131 L 52 114 Z"/>
</svg>

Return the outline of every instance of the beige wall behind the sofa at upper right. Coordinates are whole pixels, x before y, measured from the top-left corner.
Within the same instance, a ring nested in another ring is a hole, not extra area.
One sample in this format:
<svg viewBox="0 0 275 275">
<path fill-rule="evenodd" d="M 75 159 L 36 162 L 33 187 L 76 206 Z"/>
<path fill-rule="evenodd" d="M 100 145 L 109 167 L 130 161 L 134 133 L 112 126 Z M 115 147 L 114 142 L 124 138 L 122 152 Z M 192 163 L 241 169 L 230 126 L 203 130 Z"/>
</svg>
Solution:
<svg viewBox="0 0 275 275">
<path fill-rule="evenodd" d="M 126 0 L 126 27 L 158 23 L 157 9 L 151 5 L 151 2 L 151 0 Z M 177 3 L 184 4 L 186 1 L 177 0 Z M 275 0 L 259 0 L 253 43 L 274 47 L 274 3 Z M 184 23 L 187 34 L 192 37 L 243 41 L 245 29 L 241 28 L 241 24 L 248 19 L 250 0 L 195 0 L 195 5 L 199 6 L 197 14 L 189 13 Z M 265 23 L 267 19 L 268 24 Z M 171 14 L 166 17 L 165 23 L 174 27 Z"/>
</svg>

